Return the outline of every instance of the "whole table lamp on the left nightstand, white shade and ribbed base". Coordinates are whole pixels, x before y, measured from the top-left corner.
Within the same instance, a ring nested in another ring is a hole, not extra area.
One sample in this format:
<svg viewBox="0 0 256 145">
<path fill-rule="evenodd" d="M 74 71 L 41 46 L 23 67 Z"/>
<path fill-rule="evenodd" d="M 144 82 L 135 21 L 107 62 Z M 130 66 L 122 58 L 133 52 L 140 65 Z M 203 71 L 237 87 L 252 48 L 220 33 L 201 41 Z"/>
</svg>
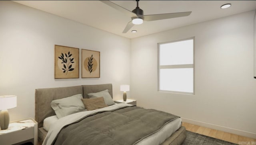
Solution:
<svg viewBox="0 0 256 145">
<path fill-rule="evenodd" d="M 6 95 L 0 96 L 0 127 L 1 129 L 7 129 L 10 122 L 10 117 L 7 109 L 17 106 L 17 96 Z"/>
</svg>

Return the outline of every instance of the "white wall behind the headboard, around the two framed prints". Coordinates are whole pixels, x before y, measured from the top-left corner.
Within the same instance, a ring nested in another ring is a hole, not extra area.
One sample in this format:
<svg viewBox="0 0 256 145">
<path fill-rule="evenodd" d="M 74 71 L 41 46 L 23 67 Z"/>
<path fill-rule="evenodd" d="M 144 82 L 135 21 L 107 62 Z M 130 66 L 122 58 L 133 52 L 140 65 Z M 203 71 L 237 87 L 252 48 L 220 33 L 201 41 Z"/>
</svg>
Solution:
<svg viewBox="0 0 256 145">
<path fill-rule="evenodd" d="M 55 44 L 100 51 L 100 78 L 54 79 Z M 130 39 L 0 1 L 0 96 L 18 96 L 10 120 L 34 118 L 36 88 L 112 83 L 114 99 L 122 98 L 119 87 L 130 84 L 129 66 Z"/>
</svg>

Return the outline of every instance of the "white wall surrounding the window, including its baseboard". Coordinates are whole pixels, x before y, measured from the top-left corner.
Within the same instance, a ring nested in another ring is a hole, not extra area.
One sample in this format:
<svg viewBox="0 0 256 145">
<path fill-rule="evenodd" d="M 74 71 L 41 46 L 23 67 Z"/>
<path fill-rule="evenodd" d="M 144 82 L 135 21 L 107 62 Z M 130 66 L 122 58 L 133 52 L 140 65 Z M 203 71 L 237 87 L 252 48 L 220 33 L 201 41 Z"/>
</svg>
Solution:
<svg viewBox="0 0 256 145">
<path fill-rule="evenodd" d="M 256 138 L 253 18 L 246 12 L 131 40 L 131 96 L 138 106 Z M 195 95 L 158 92 L 157 43 L 195 37 Z"/>
</svg>

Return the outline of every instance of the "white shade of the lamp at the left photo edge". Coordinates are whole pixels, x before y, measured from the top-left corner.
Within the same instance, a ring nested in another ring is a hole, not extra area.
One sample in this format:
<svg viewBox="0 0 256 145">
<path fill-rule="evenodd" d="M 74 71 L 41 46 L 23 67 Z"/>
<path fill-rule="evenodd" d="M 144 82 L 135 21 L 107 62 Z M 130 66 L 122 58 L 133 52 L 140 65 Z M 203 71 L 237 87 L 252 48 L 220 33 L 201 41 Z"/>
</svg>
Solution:
<svg viewBox="0 0 256 145">
<path fill-rule="evenodd" d="M 0 110 L 6 110 L 14 107 L 17 107 L 17 96 L 0 96 Z"/>
</svg>

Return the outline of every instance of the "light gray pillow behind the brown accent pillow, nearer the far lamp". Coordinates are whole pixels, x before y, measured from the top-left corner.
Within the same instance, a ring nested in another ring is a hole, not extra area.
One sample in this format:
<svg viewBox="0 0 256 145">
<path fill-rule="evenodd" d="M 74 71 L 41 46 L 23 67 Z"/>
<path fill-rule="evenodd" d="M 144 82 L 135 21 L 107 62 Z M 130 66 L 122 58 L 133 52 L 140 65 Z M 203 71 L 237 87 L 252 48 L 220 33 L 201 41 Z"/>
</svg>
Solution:
<svg viewBox="0 0 256 145">
<path fill-rule="evenodd" d="M 97 92 L 97 93 L 89 93 L 88 96 L 89 96 L 89 98 L 103 97 L 104 101 L 105 101 L 105 104 L 108 105 L 108 106 L 115 104 L 113 99 L 111 98 L 108 90 L 104 90 L 104 91 Z"/>
</svg>

